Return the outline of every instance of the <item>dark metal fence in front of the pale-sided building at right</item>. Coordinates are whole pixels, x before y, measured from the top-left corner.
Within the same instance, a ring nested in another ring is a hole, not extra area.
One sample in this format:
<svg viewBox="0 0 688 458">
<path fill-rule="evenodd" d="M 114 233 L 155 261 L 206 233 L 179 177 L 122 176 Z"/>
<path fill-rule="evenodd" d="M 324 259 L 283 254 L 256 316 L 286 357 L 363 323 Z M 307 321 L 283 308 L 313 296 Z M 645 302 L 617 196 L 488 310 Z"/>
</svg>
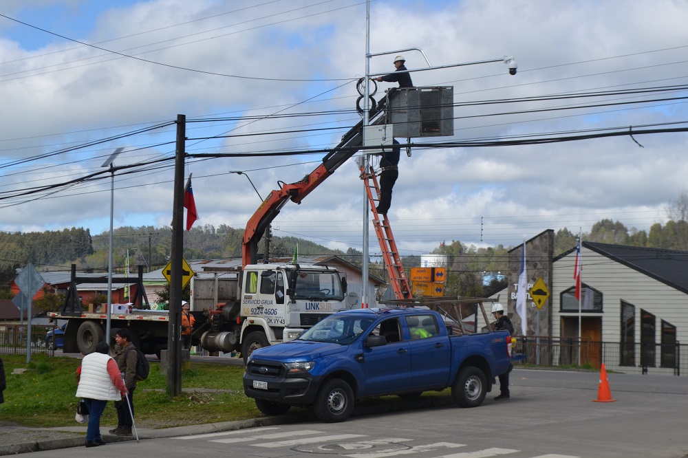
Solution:
<svg viewBox="0 0 688 458">
<path fill-rule="evenodd" d="M 640 344 L 577 338 L 519 337 L 512 348 L 515 365 L 590 366 L 621 373 L 688 375 L 688 345 Z"/>
</svg>

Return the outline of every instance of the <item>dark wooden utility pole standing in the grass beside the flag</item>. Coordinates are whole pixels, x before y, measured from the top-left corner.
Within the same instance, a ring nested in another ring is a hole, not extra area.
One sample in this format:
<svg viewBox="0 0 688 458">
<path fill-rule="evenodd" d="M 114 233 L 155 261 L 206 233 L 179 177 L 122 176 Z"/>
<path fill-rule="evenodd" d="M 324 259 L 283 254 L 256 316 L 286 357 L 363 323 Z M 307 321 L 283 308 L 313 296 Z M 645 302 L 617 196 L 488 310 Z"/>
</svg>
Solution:
<svg viewBox="0 0 688 458">
<path fill-rule="evenodd" d="M 174 199 L 172 208 L 172 272 L 167 330 L 167 387 L 170 397 L 182 394 L 182 257 L 184 256 L 184 155 L 186 116 L 177 115 Z"/>
</svg>

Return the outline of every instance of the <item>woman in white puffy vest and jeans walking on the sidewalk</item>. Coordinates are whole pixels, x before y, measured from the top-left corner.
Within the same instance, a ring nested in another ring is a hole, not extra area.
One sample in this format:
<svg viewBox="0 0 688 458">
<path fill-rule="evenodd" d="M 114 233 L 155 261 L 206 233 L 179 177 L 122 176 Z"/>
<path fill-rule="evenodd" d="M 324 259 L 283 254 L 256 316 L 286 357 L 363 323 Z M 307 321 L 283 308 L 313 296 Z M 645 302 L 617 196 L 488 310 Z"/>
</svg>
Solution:
<svg viewBox="0 0 688 458">
<path fill-rule="evenodd" d="M 86 430 L 86 446 L 105 445 L 100 435 L 100 415 L 103 415 L 108 401 L 119 401 L 127 394 L 117 363 L 107 353 L 106 342 L 96 345 L 96 351 L 84 356 L 76 370 L 78 387 L 76 397 L 83 397 L 89 411 Z"/>
</svg>

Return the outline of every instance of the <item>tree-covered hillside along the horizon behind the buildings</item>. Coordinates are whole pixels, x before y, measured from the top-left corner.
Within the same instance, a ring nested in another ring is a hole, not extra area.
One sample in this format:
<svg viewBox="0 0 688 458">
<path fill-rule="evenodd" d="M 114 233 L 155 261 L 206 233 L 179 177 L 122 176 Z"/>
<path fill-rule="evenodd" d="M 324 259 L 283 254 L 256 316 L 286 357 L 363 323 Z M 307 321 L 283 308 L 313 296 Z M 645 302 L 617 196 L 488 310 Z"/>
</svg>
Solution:
<svg viewBox="0 0 688 458">
<path fill-rule="evenodd" d="M 627 228 L 621 221 L 601 219 L 583 233 L 583 241 L 612 243 L 647 248 L 688 250 L 688 195 L 682 193 L 667 206 L 669 219 L 665 225 L 655 223 L 645 230 Z M 223 259 L 241 257 L 243 229 L 221 225 L 204 225 L 184 233 L 186 259 Z M 555 256 L 571 250 L 578 242 L 578 234 L 568 228 L 555 232 Z M 169 228 L 153 226 L 125 226 L 113 232 L 113 265 L 116 272 L 124 272 L 129 257 L 130 270 L 143 265 L 144 272 L 164 267 L 169 262 L 172 233 Z M 312 241 L 297 237 L 271 237 L 270 257 L 292 257 L 299 246 L 299 255 L 336 255 L 361 265 L 363 254 L 349 248 L 346 252 L 331 250 Z M 445 254 L 448 259 L 447 296 L 484 296 L 506 285 L 500 272 L 508 270 L 508 251 L 513 247 L 467 246 L 458 240 L 442 241 L 432 254 Z M 259 246 L 262 256 L 265 240 Z M 72 263 L 80 272 L 107 272 L 109 263 L 109 232 L 91 235 L 88 229 L 71 228 L 61 231 L 8 233 L 0 232 L 0 298 L 11 298 L 8 282 L 16 276 L 16 269 L 33 263 L 41 271 L 69 270 Z M 406 268 L 420 265 L 420 255 L 403 259 Z M 371 274 L 386 279 L 381 259 L 369 264 Z"/>
</svg>

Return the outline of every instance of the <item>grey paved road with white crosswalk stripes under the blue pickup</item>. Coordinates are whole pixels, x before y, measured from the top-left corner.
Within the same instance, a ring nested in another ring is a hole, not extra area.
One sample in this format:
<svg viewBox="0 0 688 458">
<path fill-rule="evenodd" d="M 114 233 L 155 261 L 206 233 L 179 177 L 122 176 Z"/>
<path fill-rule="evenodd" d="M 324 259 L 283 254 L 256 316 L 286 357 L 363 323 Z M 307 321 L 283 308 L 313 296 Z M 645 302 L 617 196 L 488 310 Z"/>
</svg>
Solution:
<svg viewBox="0 0 688 458">
<path fill-rule="evenodd" d="M 100 457 L 168 458 L 227 454 L 252 457 L 382 458 L 674 458 L 688 456 L 686 378 L 609 374 L 616 402 L 597 398 L 598 373 L 515 369 L 512 397 L 478 408 L 428 406 L 357 409 L 340 424 L 299 423 L 108 444 Z M 393 401 L 390 404 L 396 404 Z M 93 456 L 83 447 L 36 452 L 52 458 Z"/>
</svg>

